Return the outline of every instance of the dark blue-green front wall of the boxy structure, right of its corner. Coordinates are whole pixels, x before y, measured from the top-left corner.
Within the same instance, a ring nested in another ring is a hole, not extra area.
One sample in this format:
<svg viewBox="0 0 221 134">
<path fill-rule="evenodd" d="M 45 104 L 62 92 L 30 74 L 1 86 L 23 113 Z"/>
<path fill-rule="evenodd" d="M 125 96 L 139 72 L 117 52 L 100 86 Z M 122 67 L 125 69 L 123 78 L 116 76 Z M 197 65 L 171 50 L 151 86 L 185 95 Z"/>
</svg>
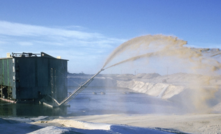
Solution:
<svg viewBox="0 0 221 134">
<path fill-rule="evenodd" d="M 16 69 L 17 99 L 36 99 L 39 93 L 52 95 L 59 100 L 67 96 L 67 61 L 42 57 L 18 57 Z"/>
</svg>

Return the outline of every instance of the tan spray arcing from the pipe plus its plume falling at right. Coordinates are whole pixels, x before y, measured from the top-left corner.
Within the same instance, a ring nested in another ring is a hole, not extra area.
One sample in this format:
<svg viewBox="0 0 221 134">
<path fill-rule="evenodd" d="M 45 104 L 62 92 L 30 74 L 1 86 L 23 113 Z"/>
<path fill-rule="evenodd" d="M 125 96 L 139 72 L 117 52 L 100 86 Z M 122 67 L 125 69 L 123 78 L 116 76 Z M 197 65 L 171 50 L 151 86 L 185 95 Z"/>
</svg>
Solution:
<svg viewBox="0 0 221 134">
<path fill-rule="evenodd" d="M 210 80 L 214 77 L 216 72 L 221 69 L 221 64 L 218 61 L 214 61 L 214 59 L 205 57 L 199 49 L 186 47 L 186 44 L 186 41 L 173 36 L 146 35 L 136 37 L 117 47 L 107 58 L 103 68 L 124 53 L 128 53 L 128 55 L 131 54 L 132 56 L 114 63 L 105 69 L 126 62 L 133 62 L 138 59 L 151 57 L 176 57 L 178 59 L 188 60 L 194 65 L 194 67 L 190 68 L 192 72 L 199 73 L 199 70 L 201 70 L 207 73 L 206 80 L 199 78 L 195 80 L 194 83 L 191 83 L 189 87 L 194 87 L 192 100 L 196 109 L 208 109 L 206 101 L 214 97 L 214 93 L 218 91 L 218 85 L 213 85 L 213 89 L 205 88 L 205 86 L 211 86 Z M 135 51 L 137 53 L 133 53 Z"/>
</svg>

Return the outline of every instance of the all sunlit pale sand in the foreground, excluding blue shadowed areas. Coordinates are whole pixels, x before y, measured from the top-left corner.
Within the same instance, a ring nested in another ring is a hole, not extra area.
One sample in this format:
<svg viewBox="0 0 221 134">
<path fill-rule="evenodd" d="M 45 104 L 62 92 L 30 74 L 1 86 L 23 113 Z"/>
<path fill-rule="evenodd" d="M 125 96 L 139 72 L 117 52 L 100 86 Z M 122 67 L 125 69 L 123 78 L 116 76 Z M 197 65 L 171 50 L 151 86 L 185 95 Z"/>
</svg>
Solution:
<svg viewBox="0 0 221 134">
<path fill-rule="evenodd" d="M 46 120 L 48 124 L 63 125 L 80 129 L 109 130 L 109 124 L 128 125 L 142 128 L 170 130 L 195 134 L 221 133 L 221 114 L 191 115 L 93 115 L 59 117 Z M 89 123 L 88 123 L 89 122 Z M 43 123 L 44 125 L 47 123 Z M 85 124 L 86 123 L 86 124 Z M 95 123 L 95 124 L 92 124 Z M 32 124 L 40 124 L 41 121 Z"/>
</svg>

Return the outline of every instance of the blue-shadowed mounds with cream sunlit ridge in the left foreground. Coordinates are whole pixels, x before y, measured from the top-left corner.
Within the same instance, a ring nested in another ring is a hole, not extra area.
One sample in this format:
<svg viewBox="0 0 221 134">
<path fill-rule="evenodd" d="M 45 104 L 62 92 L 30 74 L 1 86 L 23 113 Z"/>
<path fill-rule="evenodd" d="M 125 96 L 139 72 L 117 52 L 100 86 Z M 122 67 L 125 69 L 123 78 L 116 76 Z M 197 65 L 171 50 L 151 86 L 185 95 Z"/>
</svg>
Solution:
<svg viewBox="0 0 221 134">
<path fill-rule="evenodd" d="M 172 130 L 171 130 L 172 131 Z M 3 118 L 0 119 L 1 134 L 169 134 L 156 128 L 132 127 L 107 123 L 78 121 L 75 117 L 56 118 Z"/>
</svg>

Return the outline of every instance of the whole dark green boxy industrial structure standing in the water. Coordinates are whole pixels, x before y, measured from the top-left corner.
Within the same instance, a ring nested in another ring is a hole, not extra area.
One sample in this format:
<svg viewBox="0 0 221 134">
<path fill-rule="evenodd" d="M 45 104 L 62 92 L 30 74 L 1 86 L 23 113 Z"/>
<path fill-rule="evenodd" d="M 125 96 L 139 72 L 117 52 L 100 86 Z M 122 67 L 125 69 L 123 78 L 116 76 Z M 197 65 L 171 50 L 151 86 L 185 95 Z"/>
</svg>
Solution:
<svg viewBox="0 0 221 134">
<path fill-rule="evenodd" d="M 44 52 L 0 58 L 0 98 L 17 102 L 67 97 L 67 62 Z"/>
</svg>

